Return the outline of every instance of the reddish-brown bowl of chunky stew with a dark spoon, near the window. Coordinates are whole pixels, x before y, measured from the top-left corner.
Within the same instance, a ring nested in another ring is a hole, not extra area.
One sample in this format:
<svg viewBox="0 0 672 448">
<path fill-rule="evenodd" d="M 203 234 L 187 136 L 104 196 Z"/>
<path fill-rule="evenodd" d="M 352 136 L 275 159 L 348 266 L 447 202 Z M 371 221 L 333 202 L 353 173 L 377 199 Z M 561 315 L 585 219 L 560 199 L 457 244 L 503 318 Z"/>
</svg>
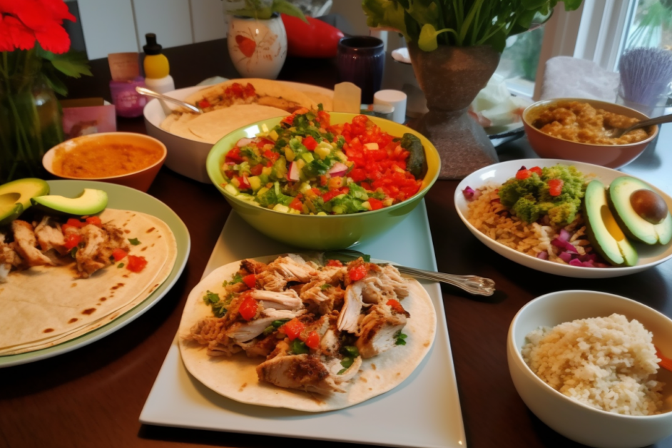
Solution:
<svg viewBox="0 0 672 448">
<path fill-rule="evenodd" d="M 607 168 L 621 168 L 631 161 L 635 160 L 648 146 L 653 138 L 658 135 L 658 126 L 651 126 L 648 138 L 637 143 L 628 143 L 627 145 L 596 145 L 592 143 L 577 143 L 574 141 L 563 140 L 562 138 L 551 137 L 532 123 L 539 112 L 554 103 L 564 101 L 579 101 L 589 103 L 594 108 L 604 109 L 608 112 L 618 113 L 628 117 L 647 120 L 648 116 L 641 112 L 626 106 L 606 101 L 588 100 L 583 98 L 555 98 L 552 100 L 537 101 L 531 104 L 523 111 L 523 125 L 530 146 L 542 158 L 561 158 L 566 161 L 577 161 L 585 163 L 594 163 L 595 165 L 606 166 Z"/>
</svg>

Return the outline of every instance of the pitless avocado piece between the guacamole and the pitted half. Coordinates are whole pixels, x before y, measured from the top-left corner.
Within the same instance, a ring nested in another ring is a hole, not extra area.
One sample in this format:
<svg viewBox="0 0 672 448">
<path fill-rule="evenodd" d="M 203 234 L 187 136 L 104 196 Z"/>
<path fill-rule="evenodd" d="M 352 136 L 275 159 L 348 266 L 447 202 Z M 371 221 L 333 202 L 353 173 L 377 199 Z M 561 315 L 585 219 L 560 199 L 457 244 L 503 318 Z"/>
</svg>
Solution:
<svg viewBox="0 0 672 448">
<path fill-rule="evenodd" d="M 615 266 L 634 266 L 638 255 L 611 214 L 604 184 L 593 180 L 584 196 L 586 233 L 593 248 Z"/>
</svg>

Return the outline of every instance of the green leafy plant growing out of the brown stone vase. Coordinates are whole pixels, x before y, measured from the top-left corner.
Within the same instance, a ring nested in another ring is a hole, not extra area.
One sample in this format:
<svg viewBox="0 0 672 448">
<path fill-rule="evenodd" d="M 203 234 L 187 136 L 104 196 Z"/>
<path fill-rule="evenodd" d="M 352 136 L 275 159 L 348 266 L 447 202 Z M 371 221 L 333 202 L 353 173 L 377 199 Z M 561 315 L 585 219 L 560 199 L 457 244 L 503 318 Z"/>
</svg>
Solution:
<svg viewBox="0 0 672 448">
<path fill-rule="evenodd" d="M 423 51 L 439 45 L 490 45 L 500 53 L 506 38 L 548 20 L 560 1 L 566 11 L 581 0 L 363 0 L 371 27 L 394 29 Z"/>
</svg>

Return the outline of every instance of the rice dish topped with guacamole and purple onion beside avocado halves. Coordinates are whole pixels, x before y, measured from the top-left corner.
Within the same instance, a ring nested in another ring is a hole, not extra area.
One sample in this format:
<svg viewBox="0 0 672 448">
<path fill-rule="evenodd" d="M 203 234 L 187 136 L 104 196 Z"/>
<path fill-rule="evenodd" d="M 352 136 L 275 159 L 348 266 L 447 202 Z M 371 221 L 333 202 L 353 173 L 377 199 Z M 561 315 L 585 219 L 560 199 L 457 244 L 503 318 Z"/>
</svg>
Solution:
<svg viewBox="0 0 672 448">
<path fill-rule="evenodd" d="M 606 268 L 580 211 L 587 183 L 574 166 L 521 167 L 503 185 L 467 187 L 467 220 L 498 243 L 541 260 Z"/>
</svg>

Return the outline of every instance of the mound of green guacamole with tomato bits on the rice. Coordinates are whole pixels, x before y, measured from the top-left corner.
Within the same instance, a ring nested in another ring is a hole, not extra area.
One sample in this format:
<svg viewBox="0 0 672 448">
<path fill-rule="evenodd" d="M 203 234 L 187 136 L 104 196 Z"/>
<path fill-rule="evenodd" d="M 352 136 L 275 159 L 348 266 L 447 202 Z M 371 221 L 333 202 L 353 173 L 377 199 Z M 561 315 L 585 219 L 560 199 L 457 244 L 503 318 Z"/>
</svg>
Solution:
<svg viewBox="0 0 672 448">
<path fill-rule="evenodd" d="M 499 187 L 499 200 L 526 223 L 548 215 L 551 223 L 567 225 L 576 218 L 585 191 L 584 175 L 574 166 L 522 167 Z"/>
</svg>

